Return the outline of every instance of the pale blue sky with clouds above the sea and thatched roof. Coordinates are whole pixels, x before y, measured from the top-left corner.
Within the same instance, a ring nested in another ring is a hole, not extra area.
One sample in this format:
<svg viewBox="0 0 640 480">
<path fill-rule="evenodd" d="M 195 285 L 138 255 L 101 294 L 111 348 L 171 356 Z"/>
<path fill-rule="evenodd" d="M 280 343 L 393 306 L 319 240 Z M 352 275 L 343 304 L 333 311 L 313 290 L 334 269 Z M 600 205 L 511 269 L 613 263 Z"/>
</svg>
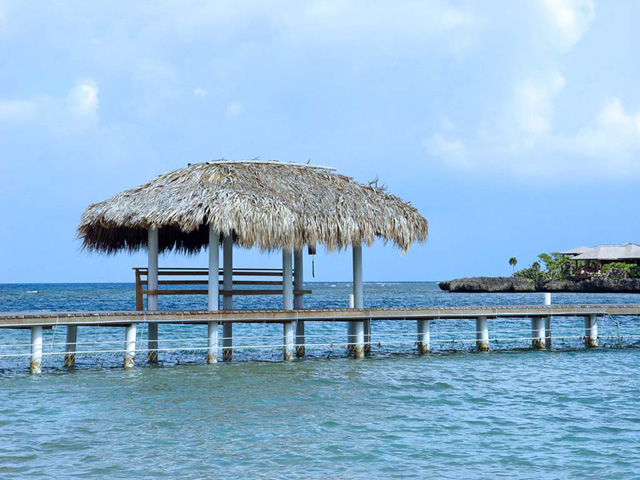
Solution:
<svg viewBox="0 0 640 480">
<path fill-rule="evenodd" d="M 640 242 L 637 18 L 631 0 L 0 0 L 0 282 L 131 281 L 143 254 L 80 251 L 84 208 L 222 157 L 311 159 L 410 200 L 429 241 L 366 249 L 365 280 Z M 349 279 L 348 254 L 315 262 Z"/>
</svg>

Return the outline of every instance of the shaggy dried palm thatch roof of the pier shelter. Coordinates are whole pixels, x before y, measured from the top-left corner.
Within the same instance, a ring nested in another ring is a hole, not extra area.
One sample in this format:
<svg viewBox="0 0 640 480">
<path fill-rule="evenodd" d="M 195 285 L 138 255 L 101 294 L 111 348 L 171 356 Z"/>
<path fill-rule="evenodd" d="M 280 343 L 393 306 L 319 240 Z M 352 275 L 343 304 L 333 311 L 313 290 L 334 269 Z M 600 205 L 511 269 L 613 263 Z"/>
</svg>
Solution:
<svg viewBox="0 0 640 480">
<path fill-rule="evenodd" d="M 418 210 L 375 185 L 332 169 L 280 162 L 220 160 L 160 175 L 82 215 L 78 235 L 89 250 L 115 253 L 146 247 L 159 229 L 161 251 L 196 253 L 208 246 L 208 225 L 246 248 L 329 251 L 371 245 L 376 237 L 402 251 L 427 238 Z"/>
</svg>

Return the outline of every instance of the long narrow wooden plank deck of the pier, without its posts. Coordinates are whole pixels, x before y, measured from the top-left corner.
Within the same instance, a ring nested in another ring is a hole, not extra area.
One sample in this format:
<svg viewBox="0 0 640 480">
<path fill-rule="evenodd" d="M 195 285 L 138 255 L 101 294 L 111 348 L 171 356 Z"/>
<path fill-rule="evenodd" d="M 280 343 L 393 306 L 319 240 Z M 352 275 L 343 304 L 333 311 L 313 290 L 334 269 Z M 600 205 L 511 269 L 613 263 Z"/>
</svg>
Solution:
<svg viewBox="0 0 640 480">
<path fill-rule="evenodd" d="M 417 307 L 372 309 L 305 310 L 171 310 L 171 311 L 86 311 L 86 312 L 0 312 L 0 328 L 31 326 L 88 325 L 124 326 L 131 323 L 204 324 L 286 323 L 355 320 L 436 320 L 447 318 L 532 318 L 583 317 L 587 315 L 640 316 L 640 305 L 521 305 L 473 307 Z"/>
</svg>

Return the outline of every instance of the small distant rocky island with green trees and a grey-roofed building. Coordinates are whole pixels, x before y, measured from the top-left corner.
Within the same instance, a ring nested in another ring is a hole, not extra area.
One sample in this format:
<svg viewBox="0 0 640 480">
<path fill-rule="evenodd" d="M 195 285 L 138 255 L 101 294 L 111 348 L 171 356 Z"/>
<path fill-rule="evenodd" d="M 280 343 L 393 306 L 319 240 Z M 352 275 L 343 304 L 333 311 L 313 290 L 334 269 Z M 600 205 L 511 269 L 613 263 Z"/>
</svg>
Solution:
<svg viewBox="0 0 640 480">
<path fill-rule="evenodd" d="M 598 245 L 542 253 L 510 277 L 468 277 L 440 282 L 450 292 L 640 293 L 640 245 Z"/>
</svg>

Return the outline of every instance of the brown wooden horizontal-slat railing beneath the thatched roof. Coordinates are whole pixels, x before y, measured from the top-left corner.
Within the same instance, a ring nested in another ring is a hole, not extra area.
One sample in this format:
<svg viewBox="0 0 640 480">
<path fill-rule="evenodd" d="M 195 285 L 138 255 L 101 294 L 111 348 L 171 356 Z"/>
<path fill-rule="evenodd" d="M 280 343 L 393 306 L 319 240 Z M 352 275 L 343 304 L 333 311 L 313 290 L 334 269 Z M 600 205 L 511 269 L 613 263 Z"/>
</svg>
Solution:
<svg viewBox="0 0 640 480">
<path fill-rule="evenodd" d="M 198 288 L 179 288 L 179 287 L 197 287 L 198 285 L 208 285 L 207 277 L 209 270 L 206 268 L 158 268 L 158 290 L 148 289 L 148 270 L 143 267 L 135 267 L 136 277 L 136 310 L 144 310 L 146 295 L 207 295 L 208 289 Z M 293 272 L 295 278 L 295 272 Z M 220 287 L 223 282 L 220 279 L 222 269 L 218 272 Z M 166 280 L 160 280 L 162 277 L 168 277 Z M 199 278 L 198 278 L 199 277 Z M 250 277 L 250 280 L 237 280 L 240 277 Z M 256 279 L 257 278 L 257 279 Z M 259 279 L 259 278 L 267 278 Z M 171 286 L 172 288 L 160 288 L 160 286 Z M 236 286 L 250 286 L 263 288 L 236 288 Z M 265 288 L 266 287 L 266 288 Z M 273 288 L 273 287 L 280 287 Z M 233 288 L 232 290 L 220 289 L 220 295 L 282 295 L 283 279 L 282 269 L 278 268 L 234 268 L 233 269 Z M 294 290 L 295 295 L 309 295 L 311 290 Z"/>
</svg>

